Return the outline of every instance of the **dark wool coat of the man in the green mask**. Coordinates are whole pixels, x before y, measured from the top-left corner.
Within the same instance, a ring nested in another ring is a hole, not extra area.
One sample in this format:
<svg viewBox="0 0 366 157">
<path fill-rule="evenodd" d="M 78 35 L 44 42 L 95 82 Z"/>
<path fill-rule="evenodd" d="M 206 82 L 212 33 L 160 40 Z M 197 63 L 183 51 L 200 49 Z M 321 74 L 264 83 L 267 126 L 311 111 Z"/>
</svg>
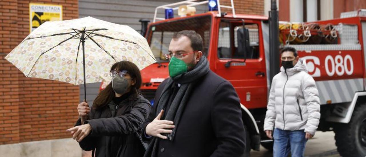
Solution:
<svg viewBox="0 0 366 157">
<path fill-rule="evenodd" d="M 154 102 L 158 102 L 166 83 L 167 80 L 158 87 Z M 143 133 L 159 113 L 156 108 L 154 105 L 143 124 Z M 151 139 L 142 137 L 146 141 Z M 244 147 L 245 132 L 238 95 L 227 80 L 209 71 L 194 85 L 173 141 L 158 139 L 157 156 L 238 157 L 244 153 Z"/>
</svg>

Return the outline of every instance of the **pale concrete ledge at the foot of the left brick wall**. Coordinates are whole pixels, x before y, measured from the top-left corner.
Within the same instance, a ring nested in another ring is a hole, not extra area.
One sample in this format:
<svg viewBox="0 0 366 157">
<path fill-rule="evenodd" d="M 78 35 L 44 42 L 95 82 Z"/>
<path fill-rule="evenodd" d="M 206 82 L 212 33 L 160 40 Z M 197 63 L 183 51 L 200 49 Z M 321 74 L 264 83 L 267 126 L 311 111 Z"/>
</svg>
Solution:
<svg viewBox="0 0 366 157">
<path fill-rule="evenodd" d="M 55 139 L 0 145 L 0 156 L 7 157 L 81 157 L 75 140 Z"/>
</svg>

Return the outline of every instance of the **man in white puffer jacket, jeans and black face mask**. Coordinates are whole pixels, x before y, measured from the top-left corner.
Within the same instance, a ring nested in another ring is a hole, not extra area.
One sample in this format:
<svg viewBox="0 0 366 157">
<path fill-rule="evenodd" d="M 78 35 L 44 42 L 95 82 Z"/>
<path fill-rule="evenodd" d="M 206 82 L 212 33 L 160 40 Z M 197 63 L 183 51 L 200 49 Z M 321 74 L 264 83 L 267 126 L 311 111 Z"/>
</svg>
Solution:
<svg viewBox="0 0 366 157">
<path fill-rule="evenodd" d="M 314 136 L 320 119 L 320 101 L 314 78 L 297 51 L 281 51 L 281 72 L 273 77 L 264 131 L 272 139 L 273 156 L 302 157 L 307 139 Z M 273 129 L 275 129 L 273 131 Z"/>
</svg>

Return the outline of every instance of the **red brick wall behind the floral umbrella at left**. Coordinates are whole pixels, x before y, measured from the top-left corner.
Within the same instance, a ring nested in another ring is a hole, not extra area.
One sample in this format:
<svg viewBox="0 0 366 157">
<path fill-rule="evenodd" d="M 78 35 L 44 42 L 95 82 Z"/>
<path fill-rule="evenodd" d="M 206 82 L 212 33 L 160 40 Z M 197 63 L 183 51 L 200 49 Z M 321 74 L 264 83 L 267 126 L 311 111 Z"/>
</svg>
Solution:
<svg viewBox="0 0 366 157">
<path fill-rule="evenodd" d="M 63 19 L 79 17 L 78 0 L 1 0 L 0 144 L 69 138 L 79 86 L 26 78 L 4 57 L 29 34 L 29 3 L 60 4 Z"/>
</svg>

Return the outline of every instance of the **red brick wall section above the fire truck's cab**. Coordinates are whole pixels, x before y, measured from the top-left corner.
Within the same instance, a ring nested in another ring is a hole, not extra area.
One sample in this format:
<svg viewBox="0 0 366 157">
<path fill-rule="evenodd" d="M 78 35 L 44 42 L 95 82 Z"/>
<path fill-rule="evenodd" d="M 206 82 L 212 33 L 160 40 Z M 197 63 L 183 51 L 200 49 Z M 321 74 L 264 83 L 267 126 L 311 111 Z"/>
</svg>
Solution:
<svg viewBox="0 0 366 157">
<path fill-rule="evenodd" d="M 221 0 L 220 5 L 231 6 L 230 0 Z M 264 0 L 234 0 L 236 14 L 263 15 Z M 231 13 L 231 9 L 223 8 L 223 12 Z"/>
</svg>

